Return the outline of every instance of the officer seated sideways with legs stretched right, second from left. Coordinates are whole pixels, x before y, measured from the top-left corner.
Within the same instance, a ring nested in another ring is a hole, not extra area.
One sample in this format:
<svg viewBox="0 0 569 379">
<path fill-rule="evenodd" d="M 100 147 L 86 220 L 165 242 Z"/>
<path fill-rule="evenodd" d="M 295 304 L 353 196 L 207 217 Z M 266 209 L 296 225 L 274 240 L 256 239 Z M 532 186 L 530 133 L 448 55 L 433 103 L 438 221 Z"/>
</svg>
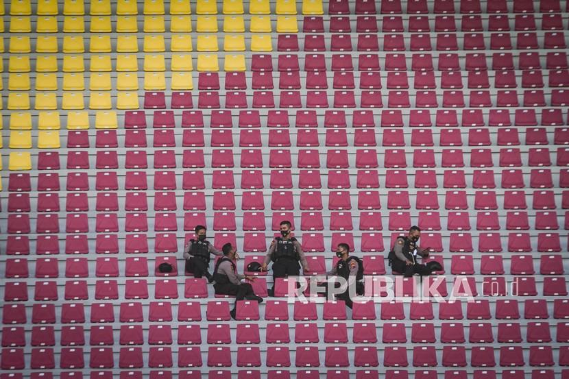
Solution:
<svg viewBox="0 0 569 379">
<path fill-rule="evenodd" d="M 241 280 L 247 279 L 254 281 L 254 276 L 240 275 L 236 272 L 234 260 L 239 259 L 237 252 L 231 245 L 226 243 L 223 245 L 223 258 L 219 258 L 213 270 L 213 289 L 216 295 L 234 295 L 235 304 L 239 300 L 255 300 L 256 302 L 263 302 L 263 297 L 258 297 L 253 292 L 253 287 L 249 283 L 241 283 Z M 231 317 L 235 319 L 235 306 L 230 311 Z"/>
</svg>

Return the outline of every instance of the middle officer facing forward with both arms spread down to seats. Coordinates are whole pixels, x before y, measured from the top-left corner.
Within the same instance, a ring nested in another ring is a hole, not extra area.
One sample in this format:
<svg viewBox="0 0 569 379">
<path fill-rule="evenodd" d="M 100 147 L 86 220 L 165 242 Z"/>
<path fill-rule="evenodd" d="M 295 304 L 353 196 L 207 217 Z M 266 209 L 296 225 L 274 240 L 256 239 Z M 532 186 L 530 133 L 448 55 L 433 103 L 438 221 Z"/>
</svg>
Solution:
<svg viewBox="0 0 569 379">
<path fill-rule="evenodd" d="M 273 287 L 269 289 L 268 293 L 270 296 L 274 296 L 275 280 L 276 278 L 286 278 L 287 276 L 299 276 L 300 275 L 300 265 L 298 262 L 302 263 L 302 269 L 308 271 L 308 262 L 306 257 L 302 252 L 302 247 L 300 243 L 294 237 L 291 237 L 291 222 L 281 221 L 280 223 L 280 235 L 281 237 L 276 237 L 271 246 L 269 247 L 269 252 L 265 257 L 265 262 L 261 269 L 267 271 L 267 265 L 272 260 L 273 263 Z"/>
</svg>

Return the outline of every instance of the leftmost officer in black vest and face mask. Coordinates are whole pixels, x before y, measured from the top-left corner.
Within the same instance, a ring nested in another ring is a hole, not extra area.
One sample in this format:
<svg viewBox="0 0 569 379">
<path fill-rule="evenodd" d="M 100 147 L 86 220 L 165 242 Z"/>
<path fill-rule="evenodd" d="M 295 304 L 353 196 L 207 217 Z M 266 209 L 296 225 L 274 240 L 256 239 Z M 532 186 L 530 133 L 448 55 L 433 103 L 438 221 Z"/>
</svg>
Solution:
<svg viewBox="0 0 569 379">
<path fill-rule="evenodd" d="M 213 277 L 209 273 L 210 254 L 220 256 L 222 253 L 207 241 L 206 227 L 197 225 L 195 239 L 188 241 L 184 247 L 186 272 L 193 273 L 195 278 L 205 276 L 208 282 L 213 282 Z"/>
</svg>

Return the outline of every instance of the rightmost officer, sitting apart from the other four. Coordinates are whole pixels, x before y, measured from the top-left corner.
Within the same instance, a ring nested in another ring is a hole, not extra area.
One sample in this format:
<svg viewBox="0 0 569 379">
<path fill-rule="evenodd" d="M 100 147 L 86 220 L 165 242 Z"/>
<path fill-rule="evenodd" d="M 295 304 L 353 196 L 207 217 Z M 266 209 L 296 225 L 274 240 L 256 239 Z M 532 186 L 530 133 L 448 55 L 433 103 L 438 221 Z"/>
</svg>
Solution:
<svg viewBox="0 0 569 379">
<path fill-rule="evenodd" d="M 400 236 L 396 239 L 395 245 L 389 252 L 389 265 L 391 270 L 396 273 L 402 273 L 403 276 L 409 278 L 413 274 L 431 275 L 433 271 L 430 266 L 417 263 L 417 256 L 422 258 L 428 257 L 428 247 L 421 249 L 417 245 L 421 237 L 421 230 L 417 226 L 409 229 L 409 235 Z"/>
</svg>

